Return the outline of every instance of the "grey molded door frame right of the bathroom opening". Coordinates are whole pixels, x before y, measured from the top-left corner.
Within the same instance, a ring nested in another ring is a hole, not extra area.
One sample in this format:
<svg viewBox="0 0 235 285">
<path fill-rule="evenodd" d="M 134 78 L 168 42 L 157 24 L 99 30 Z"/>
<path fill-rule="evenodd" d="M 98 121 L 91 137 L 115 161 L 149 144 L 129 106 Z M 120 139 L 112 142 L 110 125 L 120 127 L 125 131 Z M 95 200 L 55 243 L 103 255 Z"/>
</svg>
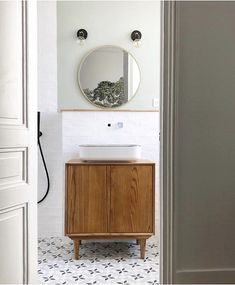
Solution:
<svg viewBox="0 0 235 285">
<path fill-rule="evenodd" d="M 173 283 L 176 3 L 161 2 L 160 283 Z"/>
</svg>

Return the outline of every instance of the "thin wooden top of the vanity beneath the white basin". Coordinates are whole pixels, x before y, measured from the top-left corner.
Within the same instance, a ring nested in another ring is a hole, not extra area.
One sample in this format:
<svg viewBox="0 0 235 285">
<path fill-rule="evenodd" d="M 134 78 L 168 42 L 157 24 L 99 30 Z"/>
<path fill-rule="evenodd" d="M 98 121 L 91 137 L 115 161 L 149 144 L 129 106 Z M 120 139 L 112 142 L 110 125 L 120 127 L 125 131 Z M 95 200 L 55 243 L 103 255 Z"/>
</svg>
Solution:
<svg viewBox="0 0 235 285">
<path fill-rule="evenodd" d="M 135 161 L 111 161 L 111 160 L 101 160 L 101 161 L 83 161 L 80 159 L 71 159 L 66 162 L 67 165 L 72 165 L 72 164 L 77 164 L 77 165 L 155 165 L 155 162 L 151 160 L 145 160 L 145 159 L 140 159 L 140 160 L 135 160 Z"/>
</svg>

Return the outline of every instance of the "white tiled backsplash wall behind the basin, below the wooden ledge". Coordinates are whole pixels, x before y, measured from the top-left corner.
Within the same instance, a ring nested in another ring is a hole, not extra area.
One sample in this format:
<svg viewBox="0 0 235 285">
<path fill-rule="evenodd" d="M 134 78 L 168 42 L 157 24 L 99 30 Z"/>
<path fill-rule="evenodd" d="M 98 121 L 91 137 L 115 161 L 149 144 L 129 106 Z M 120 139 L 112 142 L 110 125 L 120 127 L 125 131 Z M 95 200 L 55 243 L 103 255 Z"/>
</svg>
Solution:
<svg viewBox="0 0 235 285">
<path fill-rule="evenodd" d="M 117 128 L 117 122 L 123 128 Z M 111 123 L 111 127 L 108 127 Z M 140 144 L 142 158 L 156 163 L 156 234 L 159 233 L 159 113 L 64 112 L 63 159 L 79 158 L 79 144 Z"/>
</svg>

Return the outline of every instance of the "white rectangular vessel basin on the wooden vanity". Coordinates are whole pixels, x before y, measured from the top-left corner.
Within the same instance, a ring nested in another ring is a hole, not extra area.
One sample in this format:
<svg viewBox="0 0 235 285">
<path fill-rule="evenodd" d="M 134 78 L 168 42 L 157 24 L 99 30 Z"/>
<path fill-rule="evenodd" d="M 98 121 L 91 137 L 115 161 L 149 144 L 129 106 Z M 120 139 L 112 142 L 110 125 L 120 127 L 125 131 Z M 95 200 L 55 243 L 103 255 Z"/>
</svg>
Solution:
<svg viewBox="0 0 235 285">
<path fill-rule="evenodd" d="M 134 144 L 80 145 L 81 160 L 137 160 L 141 158 L 141 146 Z"/>
</svg>

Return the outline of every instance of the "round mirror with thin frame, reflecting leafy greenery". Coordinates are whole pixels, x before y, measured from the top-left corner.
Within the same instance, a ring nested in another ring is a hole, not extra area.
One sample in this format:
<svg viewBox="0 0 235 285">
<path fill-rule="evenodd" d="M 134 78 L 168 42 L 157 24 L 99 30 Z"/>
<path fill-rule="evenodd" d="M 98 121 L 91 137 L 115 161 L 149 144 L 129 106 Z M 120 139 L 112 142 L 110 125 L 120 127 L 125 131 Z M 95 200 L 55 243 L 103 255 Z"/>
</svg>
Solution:
<svg viewBox="0 0 235 285">
<path fill-rule="evenodd" d="M 78 80 L 92 104 L 113 108 L 134 97 L 140 83 L 140 70 L 130 53 L 119 47 L 104 46 L 84 58 Z"/>
</svg>

